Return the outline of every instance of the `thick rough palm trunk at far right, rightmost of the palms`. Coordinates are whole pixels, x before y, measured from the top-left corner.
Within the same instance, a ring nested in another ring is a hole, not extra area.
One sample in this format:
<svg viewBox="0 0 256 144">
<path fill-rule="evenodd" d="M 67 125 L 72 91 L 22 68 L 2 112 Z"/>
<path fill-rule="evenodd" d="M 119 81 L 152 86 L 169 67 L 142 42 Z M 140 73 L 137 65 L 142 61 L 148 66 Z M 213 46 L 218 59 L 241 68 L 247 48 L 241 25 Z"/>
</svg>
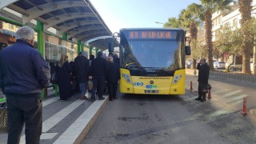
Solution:
<svg viewBox="0 0 256 144">
<path fill-rule="evenodd" d="M 238 0 L 239 11 L 241 13 L 241 26 L 242 26 L 242 73 L 250 74 L 250 50 L 252 48 L 250 31 L 246 29 L 246 22 L 251 19 L 251 6 L 252 0 Z"/>
</svg>

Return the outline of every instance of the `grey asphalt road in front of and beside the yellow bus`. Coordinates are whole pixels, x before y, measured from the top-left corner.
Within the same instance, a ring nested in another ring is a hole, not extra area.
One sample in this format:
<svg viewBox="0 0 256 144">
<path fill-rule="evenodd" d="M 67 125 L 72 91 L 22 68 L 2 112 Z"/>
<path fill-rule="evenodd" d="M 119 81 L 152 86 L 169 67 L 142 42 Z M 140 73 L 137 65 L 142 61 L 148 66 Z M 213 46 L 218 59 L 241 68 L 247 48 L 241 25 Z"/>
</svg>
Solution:
<svg viewBox="0 0 256 144">
<path fill-rule="evenodd" d="M 182 96 L 119 94 L 82 143 L 256 143 L 256 87 L 211 78 L 213 98 L 198 102 L 197 77 L 186 79 Z M 241 114 L 244 97 L 246 116 Z"/>
</svg>

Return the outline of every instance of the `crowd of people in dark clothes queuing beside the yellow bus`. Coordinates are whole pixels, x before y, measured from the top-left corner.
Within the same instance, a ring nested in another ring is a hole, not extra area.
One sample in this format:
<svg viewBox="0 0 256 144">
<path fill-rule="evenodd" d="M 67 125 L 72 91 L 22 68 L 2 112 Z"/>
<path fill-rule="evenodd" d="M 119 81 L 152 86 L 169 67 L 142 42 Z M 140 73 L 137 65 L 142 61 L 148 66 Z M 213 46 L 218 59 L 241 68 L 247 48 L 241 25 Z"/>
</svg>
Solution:
<svg viewBox="0 0 256 144">
<path fill-rule="evenodd" d="M 88 52 L 82 51 L 74 62 L 68 62 L 68 56 L 63 54 L 58 64 L 51 67 L 57 75 L 60 100 L 68 100 L 75 91 L 79 91 L 81 99 L 92 102 L 96 100 L 96 94 L 98 100 L 105 99 L 103 94 L 109 94 L 110 101 L 117 99 L 119 62 L 117 54 L 110 53 L 106 57 L 101 51 L 96 58 L 90 54 L 90 59 Z"/>
</svg>

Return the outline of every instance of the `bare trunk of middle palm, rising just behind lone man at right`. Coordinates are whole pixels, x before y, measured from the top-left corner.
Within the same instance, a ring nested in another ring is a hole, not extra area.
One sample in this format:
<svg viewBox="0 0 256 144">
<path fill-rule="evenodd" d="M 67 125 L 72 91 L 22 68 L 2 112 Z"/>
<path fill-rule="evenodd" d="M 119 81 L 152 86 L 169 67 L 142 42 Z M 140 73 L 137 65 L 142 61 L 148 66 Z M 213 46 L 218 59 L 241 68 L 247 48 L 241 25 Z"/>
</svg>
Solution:
<svg viewBox="0 0 256 144">
<path fill-rule="evenodd" d="M 206 28 L 206 50 L 208 52 L 208 64 L 210 70 L 214 70 L 214 61 L 213 61 L 213 42 L 212 42 L 212 14 L 210 10 L 207 10 L 204 14 L 205 18 L 205 28 Z"/>
</svg>

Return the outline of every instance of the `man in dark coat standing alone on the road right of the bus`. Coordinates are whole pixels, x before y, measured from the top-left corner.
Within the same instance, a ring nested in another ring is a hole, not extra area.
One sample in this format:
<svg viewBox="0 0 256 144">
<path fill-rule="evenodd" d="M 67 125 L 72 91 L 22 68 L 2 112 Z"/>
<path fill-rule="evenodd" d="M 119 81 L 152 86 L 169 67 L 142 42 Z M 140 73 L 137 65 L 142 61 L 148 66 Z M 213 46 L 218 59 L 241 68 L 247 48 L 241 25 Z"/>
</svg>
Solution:
<svg viewBox="0 0 256 144">
<path fill-rule="evenodd" d="M 197 101 L 205 102 L 206 101 L 206 87 L 208 85 L 210 66 L 206 62 L 206 58 L 201 58 L 197 66 L 198 69 L 198 98 L 195 98 Z"/>
</svg>

